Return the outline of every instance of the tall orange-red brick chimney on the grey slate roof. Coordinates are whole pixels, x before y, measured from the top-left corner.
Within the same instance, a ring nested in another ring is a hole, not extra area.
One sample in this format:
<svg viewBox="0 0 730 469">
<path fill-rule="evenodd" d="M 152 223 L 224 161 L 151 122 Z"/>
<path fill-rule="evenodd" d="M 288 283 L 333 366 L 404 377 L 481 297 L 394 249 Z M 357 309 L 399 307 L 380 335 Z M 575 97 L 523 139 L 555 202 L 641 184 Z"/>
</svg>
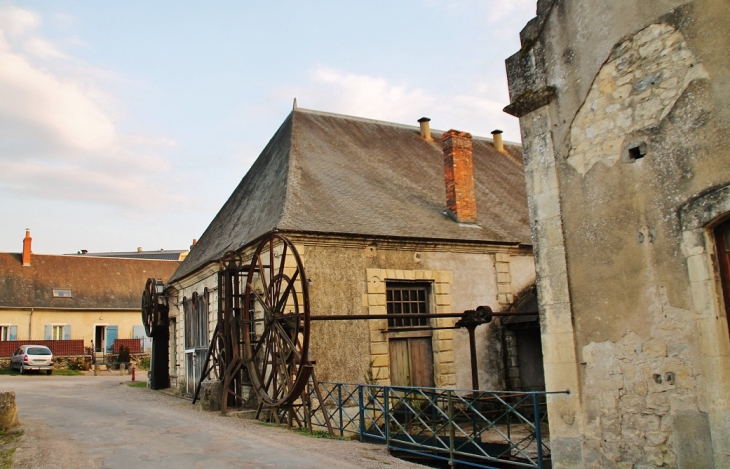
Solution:
<svg viewBox="0 0 730 469">
<path fill-rule="evenodd" d="M 471 134 L 452 129 L 441 135 L 441 141 L 444 145 L 446 205 L 459 223 L 476 223 Z"/>
</svg>

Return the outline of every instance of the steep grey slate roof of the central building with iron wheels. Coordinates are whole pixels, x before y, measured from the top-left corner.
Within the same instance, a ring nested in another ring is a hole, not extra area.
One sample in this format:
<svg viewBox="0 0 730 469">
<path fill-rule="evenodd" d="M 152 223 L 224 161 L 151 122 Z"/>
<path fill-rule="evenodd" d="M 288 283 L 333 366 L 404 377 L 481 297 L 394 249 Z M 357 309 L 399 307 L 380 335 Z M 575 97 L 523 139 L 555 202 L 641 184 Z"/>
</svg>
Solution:
<svg viewBox="0 0 730 469">
<path fill-rule="evenodd" d="M 278 229 L 530 244 L 522 147 L 473 142 L 477 227 L 446 211 L 441 132 L 297 108 L 171 281 Z"/>
</svg>

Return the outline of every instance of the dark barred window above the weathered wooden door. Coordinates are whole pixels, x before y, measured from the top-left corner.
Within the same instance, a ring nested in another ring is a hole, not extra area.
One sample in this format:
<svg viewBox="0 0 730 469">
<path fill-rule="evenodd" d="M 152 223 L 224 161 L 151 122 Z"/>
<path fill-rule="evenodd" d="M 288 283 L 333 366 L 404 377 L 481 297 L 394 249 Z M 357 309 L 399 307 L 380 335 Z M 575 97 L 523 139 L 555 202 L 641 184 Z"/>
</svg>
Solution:
<svg viewBox="0 0 730 469">
<path fill-rule="evenodd" d="M 428 283 L 387 283 L 385 286 L 388 328 L 428 327 L 429 318 L 399 318 L 401 314 L 429 314 Z"/>
</svg>

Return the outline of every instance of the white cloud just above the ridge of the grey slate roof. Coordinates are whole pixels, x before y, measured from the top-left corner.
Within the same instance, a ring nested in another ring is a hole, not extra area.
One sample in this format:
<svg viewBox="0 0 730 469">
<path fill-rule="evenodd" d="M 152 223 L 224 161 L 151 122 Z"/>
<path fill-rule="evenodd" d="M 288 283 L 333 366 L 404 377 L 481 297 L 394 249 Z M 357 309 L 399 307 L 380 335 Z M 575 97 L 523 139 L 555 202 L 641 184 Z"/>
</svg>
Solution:
<svg viewBox="0 0 730 469">
<path fill-rule="evenodd" d="M 507 140 L 520 140 L 517 119 L 502 112 L 508 104 L 506 81 L 502 87 L 476 83 L 469 89 L 440 93 L 321 68 L 311 74 L 307 86 L 282 89 L 277 95 L 276 99 L 296 96 L 303 108 L 410 125 L 418 125 L 417 119 L 427 116 L 434 128 L 456 128 L 480 136 L 500 128 Z"/>
</svg>

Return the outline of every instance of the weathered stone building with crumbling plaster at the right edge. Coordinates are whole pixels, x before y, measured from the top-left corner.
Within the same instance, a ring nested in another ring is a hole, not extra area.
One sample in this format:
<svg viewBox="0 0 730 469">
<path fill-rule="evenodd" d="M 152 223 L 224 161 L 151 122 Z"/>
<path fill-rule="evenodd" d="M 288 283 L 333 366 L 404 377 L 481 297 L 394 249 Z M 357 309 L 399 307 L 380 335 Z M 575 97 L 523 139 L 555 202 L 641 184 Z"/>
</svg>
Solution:
<svg viewBox="0 0 730 469">
<path fill-rule="evenodd" d="M 729 25 L 540 0 L 507 60 L 554 467 L 730 467 Z"/>
</svg>

